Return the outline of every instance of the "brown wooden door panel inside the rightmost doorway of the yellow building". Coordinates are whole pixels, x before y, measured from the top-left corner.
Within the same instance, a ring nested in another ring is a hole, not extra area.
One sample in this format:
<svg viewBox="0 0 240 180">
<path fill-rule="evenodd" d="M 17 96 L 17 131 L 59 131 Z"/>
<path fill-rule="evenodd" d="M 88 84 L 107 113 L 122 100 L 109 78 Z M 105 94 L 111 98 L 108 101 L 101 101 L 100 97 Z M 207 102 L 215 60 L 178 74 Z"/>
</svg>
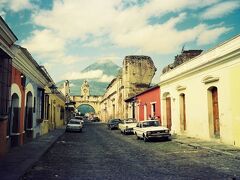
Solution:
<svg viewBox="0 0 240 180">
<path fill-rule="evenodd" d="M 218 110 L 218 92 L 217 88 L 212 89 L 212 102 L 213 102 L 213 127 L 214 135 L 220 136 L 220 125 L 219 125 L 219 110 Z"/>
</svg>

